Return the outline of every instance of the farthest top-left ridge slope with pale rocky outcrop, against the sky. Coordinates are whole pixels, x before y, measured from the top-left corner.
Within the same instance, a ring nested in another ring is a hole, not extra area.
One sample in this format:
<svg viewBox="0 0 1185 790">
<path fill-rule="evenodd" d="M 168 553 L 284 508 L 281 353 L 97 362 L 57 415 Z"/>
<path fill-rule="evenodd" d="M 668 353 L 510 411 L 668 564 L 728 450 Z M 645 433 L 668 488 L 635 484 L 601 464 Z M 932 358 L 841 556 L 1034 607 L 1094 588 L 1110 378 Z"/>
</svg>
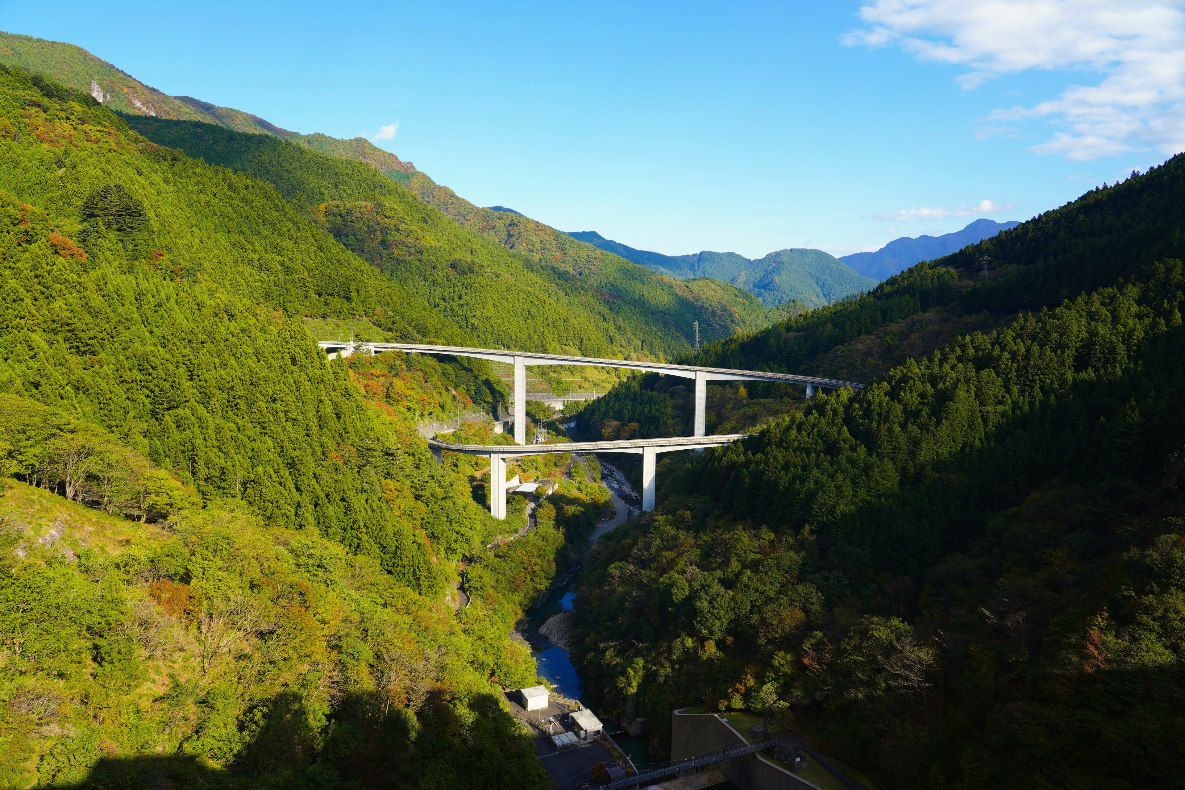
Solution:
<svg viewBox="0 0 1185 790">
<path fill-rule="evenodd" d="M 205 121 L 254 134 L 287 134 L 284 129 L 250 113 L 217 107 L 190 96 L 166 96 L 73 44 L 0 32 L 0 63 L 43 73 L 90 94 L 120 113 Z"/>
</svg>

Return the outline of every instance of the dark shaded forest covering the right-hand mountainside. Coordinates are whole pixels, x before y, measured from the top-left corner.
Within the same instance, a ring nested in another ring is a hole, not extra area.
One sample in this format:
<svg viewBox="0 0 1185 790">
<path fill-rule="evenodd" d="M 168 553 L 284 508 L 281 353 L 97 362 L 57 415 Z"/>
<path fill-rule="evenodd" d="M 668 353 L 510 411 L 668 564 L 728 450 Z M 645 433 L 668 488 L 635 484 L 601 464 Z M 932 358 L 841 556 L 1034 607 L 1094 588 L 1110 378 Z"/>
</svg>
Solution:
<svg viewBox="0 0 1185 790">
<path fill-rule="evenodd" d="M 603 708 L 659 753 L 674 707 L 755 711 L 884 786 L 1183 786 L 1183 168 L 699 354 L 818 371 L 949 325 L 608 538 L 576 598 Z M 601 424 L 661 423 L 660 385 L 619 385 Z"/>
</svg>

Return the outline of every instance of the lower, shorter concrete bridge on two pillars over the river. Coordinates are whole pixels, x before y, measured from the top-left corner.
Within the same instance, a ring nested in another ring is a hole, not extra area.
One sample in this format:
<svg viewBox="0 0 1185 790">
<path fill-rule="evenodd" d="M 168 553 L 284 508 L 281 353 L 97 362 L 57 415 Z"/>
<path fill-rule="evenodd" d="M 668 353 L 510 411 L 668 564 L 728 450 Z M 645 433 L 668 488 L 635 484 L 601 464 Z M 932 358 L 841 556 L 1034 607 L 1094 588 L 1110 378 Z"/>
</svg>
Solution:
<svg viewBox="0 0 1185 790">
<path fill-rule="evenodd" d="M 568 442 L 564 444 L 459 444 L 428 439 L 434 452 L 448 451 L 482 455 L 489 458 L 489 513 L 495 519 L 506 518 L 506 461 L 529 455 L 556 452 L 634 452 L 642 456 L 642 509 L 654 509 L 656 489 L 656 456 L 675 450 L 700 450 L 742 439 L 747 433 L 719 436 L 672 436 L 658 439 L 619 439 L 614 442 Z"/>
</svg>

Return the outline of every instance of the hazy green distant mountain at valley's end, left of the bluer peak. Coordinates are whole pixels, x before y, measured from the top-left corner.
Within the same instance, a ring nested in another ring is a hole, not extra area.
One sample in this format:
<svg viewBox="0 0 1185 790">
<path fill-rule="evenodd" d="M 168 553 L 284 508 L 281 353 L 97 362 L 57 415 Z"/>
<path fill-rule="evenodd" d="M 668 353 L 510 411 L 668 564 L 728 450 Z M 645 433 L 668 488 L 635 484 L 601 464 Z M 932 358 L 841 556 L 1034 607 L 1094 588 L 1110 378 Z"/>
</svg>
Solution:
<svg viewBox="0 0 1185 790">
<path fill-rule="evenodd" d="M 822 250 L 779 250 L 750 261 L 736 252 L 704 251 L 670 256 L 635 250 L 596 231 L 578 231 L 569 236 L 671 277 L 711 277 L 732 283 L 754 294 L 768 307 L 790 301 L 807 307 L 831 304 L 869 290 L 878 282 L 856 272 Z"/>
</svg>

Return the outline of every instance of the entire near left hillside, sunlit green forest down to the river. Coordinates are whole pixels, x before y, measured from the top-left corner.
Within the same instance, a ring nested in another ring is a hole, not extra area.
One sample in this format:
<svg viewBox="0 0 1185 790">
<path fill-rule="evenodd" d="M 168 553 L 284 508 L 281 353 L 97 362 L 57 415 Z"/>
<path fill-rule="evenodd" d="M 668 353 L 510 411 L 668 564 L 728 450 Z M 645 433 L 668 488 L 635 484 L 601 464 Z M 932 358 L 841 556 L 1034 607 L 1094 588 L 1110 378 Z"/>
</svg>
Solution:
<svg viewBox="0 0 1185 790">
<path fill-rule="evenodd" d="M 6 785 L 544 785 L 495 693 L 587 515 L 486 558 L 411 415 L 500 383 L 326 364 L 305 315 L 465 338 L 270 185 L 0 68 Z"/>
</svg>

